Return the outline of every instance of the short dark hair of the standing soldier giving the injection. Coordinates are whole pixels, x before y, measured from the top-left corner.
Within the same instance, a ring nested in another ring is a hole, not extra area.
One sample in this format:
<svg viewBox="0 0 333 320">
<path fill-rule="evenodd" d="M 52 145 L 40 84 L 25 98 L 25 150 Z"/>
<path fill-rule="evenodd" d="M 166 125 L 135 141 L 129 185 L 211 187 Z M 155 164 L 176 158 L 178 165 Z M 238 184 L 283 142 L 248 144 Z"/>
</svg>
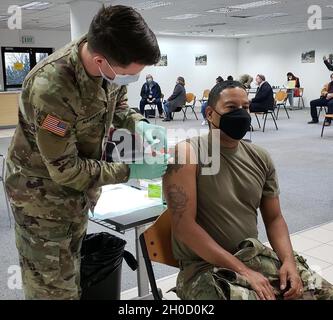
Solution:
<svg viewBox="0 0 333 320">
<path fill-rule="evenodd" d="M 135 62 L 156 64 L 161 57 L 153 31 L 131 7 L 103 6 L 93 18 L 88 35 L 88 49 L 120 66 Z"/>
</svg>

